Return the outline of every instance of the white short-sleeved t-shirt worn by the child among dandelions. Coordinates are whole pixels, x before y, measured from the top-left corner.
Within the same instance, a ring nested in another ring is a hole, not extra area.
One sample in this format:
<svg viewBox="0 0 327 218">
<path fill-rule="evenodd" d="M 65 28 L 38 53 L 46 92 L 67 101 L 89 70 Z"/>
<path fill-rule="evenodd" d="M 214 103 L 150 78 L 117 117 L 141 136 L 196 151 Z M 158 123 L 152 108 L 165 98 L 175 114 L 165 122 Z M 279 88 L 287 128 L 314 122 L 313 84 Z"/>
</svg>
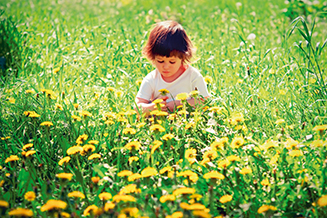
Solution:
<svg viewBox="0 0 327 218">
<path fill-rule="evenodd" d="M 160 89 L 167 89 L 169 91 L 167 95 L 169 99 L 166 102 L 169 102 L 173 100 L 171 96 L 175 99 L 177 94 L 183 92 L 190 93 L 196 88 L 200 96 L 209 96 L 203 76 L 192 66 L 188 66 L 180 77 L 170 83 L 165 82 L 158 69 L 155 69 L 144 77 L 136 97 L 153 101 L 160 97 Z"/>
</svg>

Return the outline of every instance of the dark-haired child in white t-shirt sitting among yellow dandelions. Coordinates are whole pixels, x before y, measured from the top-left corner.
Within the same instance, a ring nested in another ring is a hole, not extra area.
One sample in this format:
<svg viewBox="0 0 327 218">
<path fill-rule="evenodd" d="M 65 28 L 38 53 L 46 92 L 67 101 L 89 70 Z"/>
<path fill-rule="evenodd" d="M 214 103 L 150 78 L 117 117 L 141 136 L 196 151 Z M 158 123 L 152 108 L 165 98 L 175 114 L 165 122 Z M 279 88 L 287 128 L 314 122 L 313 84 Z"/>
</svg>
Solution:
<svg viewBox="0 0 327 218">
<path fill-rule="evenodd" d="M 179 93 L 198 90 L 200 96 L 209 97 L 203 76 L 197 69 L 188 65 L 192 53 L 192 43 L 180 24 L 175 21 L 156 24 L 143 48 L 143 55 L 156 69 L 143 79 L 136 95 L 135 101 L 142 113 L 149 114 L 155 110 L 153 101 L 156 99 L 163 100 L 163 111 L 174 111 L 175 107 L 182 104 L 176 100 Z M 167 96 L 162 96 L 159 92 L 164 89 L 169 91 Z M 195 106 L 193 98 L 187 101 Z"/>
</svg>

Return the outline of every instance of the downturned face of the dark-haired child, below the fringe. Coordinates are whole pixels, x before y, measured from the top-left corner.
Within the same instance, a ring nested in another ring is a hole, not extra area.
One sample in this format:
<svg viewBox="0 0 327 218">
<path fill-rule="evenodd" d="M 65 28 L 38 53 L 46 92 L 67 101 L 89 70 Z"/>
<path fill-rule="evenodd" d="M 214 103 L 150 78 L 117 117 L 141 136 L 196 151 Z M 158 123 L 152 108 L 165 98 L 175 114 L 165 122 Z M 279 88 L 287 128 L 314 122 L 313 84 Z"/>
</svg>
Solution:
<svg viewBox="0 0 327 218">
<path fill-rule="evenodd" d="M 156 55 L 154 65 L 166 82 L 173 82 L 184 72 L 182 59 L 175 56 L 165 57 Z"/>
</svg>

